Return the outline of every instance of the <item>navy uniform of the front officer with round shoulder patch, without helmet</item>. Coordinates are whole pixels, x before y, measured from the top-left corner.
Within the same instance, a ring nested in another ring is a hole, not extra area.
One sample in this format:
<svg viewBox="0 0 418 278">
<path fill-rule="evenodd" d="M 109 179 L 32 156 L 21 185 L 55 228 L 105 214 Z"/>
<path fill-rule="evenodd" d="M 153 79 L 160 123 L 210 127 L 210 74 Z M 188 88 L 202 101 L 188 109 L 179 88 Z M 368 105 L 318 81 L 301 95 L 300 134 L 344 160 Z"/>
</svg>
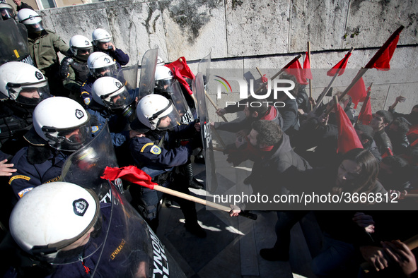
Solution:
<svg viewBox="0 0 418 278">
<path fill-rule="evenodd" d="M 172 174 L 171 170 L 173 167 L 185 164 L 192 154 L 193 146 L 191 143 L 178 147 L 173 144 L 175 138 L 192 138 L 192 134 L 196 133 L 195 123 L 176 126 L 172 131 L 165 134 L 161 133 L 161 131 L 149 131 L 146 133 L 146 137 L 133 138 L 129 143 L 129 150 L 138 167 L 149 174 L 159 186 L 170 186 L 177 191 L 190 194 L 187 188 L 187 178 Z M 158 226 L 158 203 L 163 193 L 149 188 L 140 188 L 140 193 L 134 191 L 131 191 L 131 193 L 133 193 L 134 207 L 139 209 L 151 229 L 155 231 Z M 137 200 L 139 194 L 141 198 Z M 180 209 L 185 215 L 186 229 L 199 237 L 206 236 L 197 224 L 195 203 L 181 198 L 175 199 L 175 201 L 180 205 Z"/>
</svg>

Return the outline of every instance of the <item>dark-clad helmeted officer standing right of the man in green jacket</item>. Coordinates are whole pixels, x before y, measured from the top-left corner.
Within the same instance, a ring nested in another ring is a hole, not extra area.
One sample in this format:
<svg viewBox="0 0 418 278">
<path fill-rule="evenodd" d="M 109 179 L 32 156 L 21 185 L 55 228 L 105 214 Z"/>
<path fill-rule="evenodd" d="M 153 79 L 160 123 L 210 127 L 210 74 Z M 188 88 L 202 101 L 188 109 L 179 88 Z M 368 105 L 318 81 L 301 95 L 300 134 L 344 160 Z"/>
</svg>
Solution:
<svg viewBox="0 0 418 278">
<path fill-rule="evenodd" d="M 59 75 L 64 87 L 70 91 L 69 97 L 81 102 L 80 87 L 90 73 L 87 59 L 93 52 L 93 44 L 87 37 L 75 35 L 71 37 L 69 46 L 69 56 L 62 59 Z"/>
</svg>

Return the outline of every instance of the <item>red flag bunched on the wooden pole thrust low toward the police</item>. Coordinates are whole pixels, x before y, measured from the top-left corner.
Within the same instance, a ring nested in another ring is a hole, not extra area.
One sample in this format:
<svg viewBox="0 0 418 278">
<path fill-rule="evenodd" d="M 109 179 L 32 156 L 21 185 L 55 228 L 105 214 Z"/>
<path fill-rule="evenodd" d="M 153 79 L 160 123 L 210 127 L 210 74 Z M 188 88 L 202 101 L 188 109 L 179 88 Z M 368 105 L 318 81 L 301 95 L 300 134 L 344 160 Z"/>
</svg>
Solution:
<svg viewBox="0 0 418 278">
<path fill-rule="evenodd" d="M 137 183 L 140 186 L 145 186 L 150 189 L 153 189 L 154 186 L 158 186 L 157 183 L 153 183 L 151 181 L 151 176 L 135 166 L 127 166 L 122 168 L 106 167 L 103 176 L 100 176 L 100 178 L 109 179 L 110 181 L 115 181 L 115 179 L 120 178 L 126 181 L 131 181 L 132 183 Z"/>
</svg>

